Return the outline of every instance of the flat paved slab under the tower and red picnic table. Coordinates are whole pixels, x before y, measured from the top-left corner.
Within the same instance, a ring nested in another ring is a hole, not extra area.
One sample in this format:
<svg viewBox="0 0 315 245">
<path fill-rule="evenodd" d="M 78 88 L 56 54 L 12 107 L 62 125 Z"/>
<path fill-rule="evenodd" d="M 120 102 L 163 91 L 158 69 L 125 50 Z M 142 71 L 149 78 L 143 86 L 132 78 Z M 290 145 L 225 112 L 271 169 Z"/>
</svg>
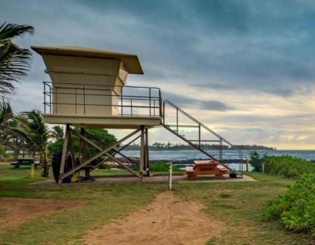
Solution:
<svg viewBox="0 0 315 245">
<path fill-rule="evenodd" d="M 242 181 L 255 181 L 250 176 L 243 175 L 242 179 L 231 179 L 228 174 L 225 175 L 225 179 L 216 179 L 215 176 L 197 176 L 194 181 L 188 180 L 186 175 L 173 176 L 173 183 L 216 183 L 216 182 L 242 182 Z M 144 177 L 142 183 L 168 183 L 168 176 L 151 176 Z M 111 185 L 111 184 L 137 184 L 141 183 L 137 177 L 134 176 L 102 176 L 95 179 L 95 182 L 83 182 L 83 183 L 68 183 L 64 185 Z M 50 179 L 48 181 L 39 181 L 35 183 L 29 183 L 30 186 L 54 186 L 57 185 L 56 181 Z"/>
</svg>

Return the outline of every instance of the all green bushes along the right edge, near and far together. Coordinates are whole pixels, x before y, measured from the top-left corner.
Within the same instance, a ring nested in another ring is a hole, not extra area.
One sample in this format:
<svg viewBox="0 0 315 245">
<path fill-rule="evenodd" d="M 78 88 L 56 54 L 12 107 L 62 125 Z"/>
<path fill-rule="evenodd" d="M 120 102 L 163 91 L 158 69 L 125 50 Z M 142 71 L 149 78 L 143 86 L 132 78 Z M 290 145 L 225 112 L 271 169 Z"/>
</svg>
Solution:
<svg viewBox="0 0 315 245">
<path fill-rule="evenodd" d="M 315 164 L 290 155 L 253 156 L 266 173 L 297 179 L 284 195 L 265 205 L 262 221 L 279 221 L 286 230 L 307 232 L 315 239 Z"/>
</svg>

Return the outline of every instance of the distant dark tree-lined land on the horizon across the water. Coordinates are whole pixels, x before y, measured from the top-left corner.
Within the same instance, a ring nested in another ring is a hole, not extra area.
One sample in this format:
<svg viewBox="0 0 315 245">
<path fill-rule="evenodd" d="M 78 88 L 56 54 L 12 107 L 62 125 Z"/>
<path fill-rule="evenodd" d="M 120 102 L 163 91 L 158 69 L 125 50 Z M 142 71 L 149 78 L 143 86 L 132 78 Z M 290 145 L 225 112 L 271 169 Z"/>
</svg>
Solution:
<svg viewBox="0 0 315 245">
<path fill-rule="evenodd" d="M 214 144 L 202 144 L 201 145 L 204 150 L 214 151 L 218 150 L 219 146 Z M 272 150 L 276 151 L 276 148 L 267 147 L 267 146 L 257 146 L 257 145 L 235 145 L 241 150 L 255 151 L 255 150 Z M 125 151 L 136 151 L 139 150 L 140 146 L 138 144 L 133 144 L 131 146 L 127 146 Z M 223 146 L 223 150 L 228 150 L 228 146 Z M 158 143 L 155 142 L 153 145 L 149 146 L 150 151 L 180 151 L 180 150 L 194 150 L 194 148 L 187 144 L 172 144 L 172 143 Z"/>
</svg>

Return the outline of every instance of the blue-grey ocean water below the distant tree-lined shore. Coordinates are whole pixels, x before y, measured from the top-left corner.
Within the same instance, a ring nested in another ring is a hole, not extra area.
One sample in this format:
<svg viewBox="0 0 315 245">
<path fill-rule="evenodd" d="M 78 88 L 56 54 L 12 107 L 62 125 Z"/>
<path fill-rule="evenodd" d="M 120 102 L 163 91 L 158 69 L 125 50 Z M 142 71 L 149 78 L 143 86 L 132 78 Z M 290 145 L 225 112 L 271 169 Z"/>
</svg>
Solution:
<svg viewBox="0 0 315 245">
<path fill-rule="evenodd" d="M 218 151 L 208 151 L 210 154 L 216 156 Z M 249 158 L 250 151 L 242 151 L 243 159 Z M 123 151 L 125 155 L 128 157 L 139 158 L 139 151 Z M 258 151 L 261 155 L 292 155 L 296 158 L 302 158 L 304 160 L 314 160 L 315 161 L 315 151 L 267 151 L 262 150 Z M 190 159 L 207 159 L 207 156 L 200 153 L 200 151 L 150 151 L 149 152 L 150 160 L 190 160 Z M 237 151 L 223 151 L 223 160 L 239 160 L 239 155 Z M 240 166 L 237 163 L 229 163 L 229 167 L 232 167 L 236 170 L 245 170 L 245 165 Z M 249 170 L 251 171 L 253 168 L 249 166 Z"/>
</svg>

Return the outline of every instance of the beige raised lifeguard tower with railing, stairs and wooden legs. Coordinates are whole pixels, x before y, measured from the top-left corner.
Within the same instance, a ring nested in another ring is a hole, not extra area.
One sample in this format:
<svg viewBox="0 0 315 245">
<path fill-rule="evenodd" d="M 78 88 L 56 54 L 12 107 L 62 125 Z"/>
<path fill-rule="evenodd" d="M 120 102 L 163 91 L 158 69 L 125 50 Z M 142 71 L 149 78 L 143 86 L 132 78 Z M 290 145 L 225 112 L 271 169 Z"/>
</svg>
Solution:
<svg viewBox="0 0 315 245">
<path fill-rule="evenodd" d="M 218 160 L 231 173 L 235 173 L 235 169 L 231 169 L 223 162 L 223 144 L 228 144 L 230 148 L 234 147 L 230 142 L 209 130 L 176 105 L 167 100 L 162 101 L 158 87 L 126 85 L 128 74 L 144 74 L 137 55 L 69 46 L 32 46 L 31 48 L 43 57 L 45 72 L 51 79 L 50 82 L 43 82 L 43 119 L 45 123 L 66 125 L 62 153 L 52 161 L 58 183 L 69 182 L 71 175 L 85 169 L 91 162 L 94 162 L 94 165 L 90 169 L 94 169 L 106 160 L 117 162 L 139 179 L 143 178 L 144 173 L 149 176 L 148 129 L 151 127 L 165 127 L 169 132 L 204 153 L 207 158 Z M 167 122 L 165 116 L 167 107 L 173 110 L 172 115 L 176 118 L 172 123 Z M 179 123 L 179 116 L 190 120 L 190 124 Z M 73 130 L 71 125 L 80 127 L 80 133 Z M 196 128 L 197 139 L 187 139 L 182 135 L 180 130 L 183 127 Z M 86 128 L 134 131 L 115 144 L 108 145 L 102 139 L 93 139 L 92 135 L 85 131 Z M 209 132 L 215 140 L 202 139 L 204 131 Z M 80 138 L 78 153 L 74 153 L 71 147 L 71 134 L 76 134 Z M 133 162 L 121 151 L 139 138 L 141 150 L 139 173 L 137 173 L 118 160 L 115 154 Z M 130 139 L 132 140 L 129 143 L 120 146 Z M 202 149 L 203 142 L 218 143 L 218 158 Z M 87 144 L 96 148 L 99 153 L 89 156 Z M 241 161 L 241 151 L 236 150 Z M 101 156 L 106 156 L 106 160 L 95 163 Z"/>
</svg>

